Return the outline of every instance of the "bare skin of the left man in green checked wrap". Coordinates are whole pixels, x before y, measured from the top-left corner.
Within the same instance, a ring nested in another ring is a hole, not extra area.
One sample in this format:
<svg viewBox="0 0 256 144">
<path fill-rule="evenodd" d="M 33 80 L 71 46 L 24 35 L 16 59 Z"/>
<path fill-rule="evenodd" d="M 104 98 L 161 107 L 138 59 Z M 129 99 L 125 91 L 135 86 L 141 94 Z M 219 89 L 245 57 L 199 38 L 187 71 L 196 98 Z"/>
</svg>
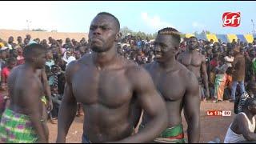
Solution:
<svg viewBox="0 0 256 144">
<path fill-rule="evenodd" d="M 30 116 L 30 121 L 38 134 L 38 142 L 48 142 L 46 122 L 42 120 L 42 101 L 44 93 L 41 80 L 36 74 L 46 62 L 46 54 L 42 51 L 25 64 L 17 66 L 8 78 L 10 94 L 10 110 Z"/>
</svg>

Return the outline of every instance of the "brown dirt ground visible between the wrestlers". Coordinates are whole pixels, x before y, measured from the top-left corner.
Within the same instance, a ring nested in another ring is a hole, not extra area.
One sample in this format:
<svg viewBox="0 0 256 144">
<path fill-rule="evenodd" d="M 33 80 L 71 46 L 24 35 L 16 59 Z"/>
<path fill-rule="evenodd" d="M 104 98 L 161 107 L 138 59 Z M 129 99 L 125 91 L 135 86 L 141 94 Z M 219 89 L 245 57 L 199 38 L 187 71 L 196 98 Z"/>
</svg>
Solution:
<svg viewBox="0 0 256 144">
<path fill-rule="evenodd" d="M 230 122 L 232 122 L 234 118 L 233 113 L 234 103 L 230 102 L 220 102 L 220 103 L 212 103 L 212 102 L 202 102 L 201 110 L 200 110 L 200 119 L 201 119 L 201 137 L 200 142 L 209 142 L 210 140 L 214 140 L 215 137 L 220 138 L 221 142 L 224 141 L 224 137 L 226 135 L 226 130 L 230 126 Z M 207 116 L 207 110 L 231 110 L 232 114 L 230 117 L 222 117 L 222 116 Z M 66 137 L 66 142 L 78 142 L 81 143 L 82 137 L 82 117 L 76 117 L 74 119 L 73 124 L 70 126 L 69 133 Z M 183 118 L 184 130 L 186 133 L 186 121 Z M 48 122 L 49 130 L 50 130 L 50 142 L 55 142 L 57 138 L 57 124 L 53 125 Z"/>
</svg>

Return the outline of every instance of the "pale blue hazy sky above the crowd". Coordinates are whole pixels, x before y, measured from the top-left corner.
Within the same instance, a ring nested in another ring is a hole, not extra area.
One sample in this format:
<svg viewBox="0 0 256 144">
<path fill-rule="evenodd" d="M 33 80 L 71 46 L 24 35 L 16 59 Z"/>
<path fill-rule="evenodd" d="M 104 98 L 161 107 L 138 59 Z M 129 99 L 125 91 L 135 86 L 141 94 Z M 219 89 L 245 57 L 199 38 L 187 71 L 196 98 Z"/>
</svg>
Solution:
<svg viewBox="0 0 256 144">
<path fill-rule="evenodd" d="M 190 34 L 209 30 L 214 34 L 251 34 L 256 24 L 256 2 L 252 1 L 55 1 L 0 2 L 0 29 L 58 30 L 58 32 L 89 31 L 90 22 L 99 12 L 116 16 L 121 27 L 152 34 L 166 26 Z M 240 12 L 238 27 L 223 27 L 222 14 Z M 256 29 L 256 28 L 255 28 Z"/>
</svg>

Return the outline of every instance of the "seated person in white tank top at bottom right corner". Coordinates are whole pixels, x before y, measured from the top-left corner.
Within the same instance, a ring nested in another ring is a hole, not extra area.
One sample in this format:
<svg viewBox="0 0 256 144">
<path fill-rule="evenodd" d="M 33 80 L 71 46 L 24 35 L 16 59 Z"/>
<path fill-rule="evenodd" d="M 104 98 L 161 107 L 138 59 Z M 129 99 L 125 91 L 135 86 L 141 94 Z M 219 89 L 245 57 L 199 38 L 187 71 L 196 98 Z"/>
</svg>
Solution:
<svg viewBox="0 0 256 144">
<path fill-rule="evenodd" d="M 235 116 L 226 132 L 224 143 L 256 142 L 255 116 L 256 98 L 247 98 L 242 105 L 242 112 Z"/>
</svg>

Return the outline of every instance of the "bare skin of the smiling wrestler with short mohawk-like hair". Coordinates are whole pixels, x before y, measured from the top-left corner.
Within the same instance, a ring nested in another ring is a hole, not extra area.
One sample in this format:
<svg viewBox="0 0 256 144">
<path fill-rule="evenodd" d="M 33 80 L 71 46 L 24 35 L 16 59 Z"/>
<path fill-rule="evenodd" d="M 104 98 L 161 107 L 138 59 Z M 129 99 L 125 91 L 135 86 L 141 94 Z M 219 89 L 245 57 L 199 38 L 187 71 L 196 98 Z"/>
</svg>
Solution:
<svg viewBox="0 0 256 144">
<path fill-rule="evenodd" d="M 188 142 L 199 142 L 200 100 L 198 80 L 190 70 L 175 60 L 178 42 L 166 34 L 158 34 L 155 39 L 155 62 L 146 65 L 154 85 L 165 99 L 168 112 L 168 127 L 182 123 L 184 108 L 188 122 Z M 170 89 L 171 87 L 171 89 Z M 143 121 L 147 121 L 147 116 Z"/>
</svg>

